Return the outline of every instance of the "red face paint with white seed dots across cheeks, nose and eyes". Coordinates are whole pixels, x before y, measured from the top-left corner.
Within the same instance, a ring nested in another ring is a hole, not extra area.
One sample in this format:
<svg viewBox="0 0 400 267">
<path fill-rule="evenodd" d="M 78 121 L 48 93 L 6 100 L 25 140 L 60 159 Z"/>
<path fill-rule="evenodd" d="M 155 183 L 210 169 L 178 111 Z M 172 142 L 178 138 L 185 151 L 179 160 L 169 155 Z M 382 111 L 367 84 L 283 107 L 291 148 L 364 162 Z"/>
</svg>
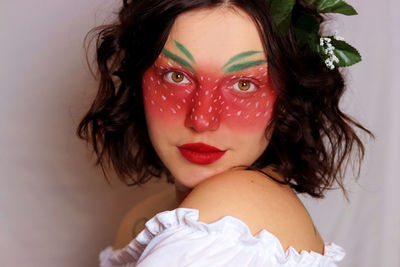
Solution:
<svg viewBox="0 0 400 267">
<path fill-rule="evenodd" d="M 172 72 L 185 80 L 174 82 Z M 240 90 L 240 81 L 250 82 L 249 90 Z M 266 63 L 223 75 L 202 66 L 194 73 L 164 56 L 145 72 L 143 95 L 152 119 L 181 120 L 197 132 L 217 130 L 221 123 L 241 131 L 265 128 L 276 99 Z"/>
</svg>

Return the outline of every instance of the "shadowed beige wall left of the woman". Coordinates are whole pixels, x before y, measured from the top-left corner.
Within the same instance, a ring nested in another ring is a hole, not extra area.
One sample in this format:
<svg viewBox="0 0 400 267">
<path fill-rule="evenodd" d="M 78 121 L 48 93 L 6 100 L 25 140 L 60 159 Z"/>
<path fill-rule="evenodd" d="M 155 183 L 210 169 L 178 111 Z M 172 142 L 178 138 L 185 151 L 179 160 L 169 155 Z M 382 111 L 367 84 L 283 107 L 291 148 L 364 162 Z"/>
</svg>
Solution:
<svg viewBox="0 0 400 267">
<path fill-rule="evenodd" d="M 162 185 L 107 185 L 74 135 L 96 86 L 85 33 L 109 0 L 0 3 L 0 266 L 96 266 L 122 214 Z"/>
</svg>

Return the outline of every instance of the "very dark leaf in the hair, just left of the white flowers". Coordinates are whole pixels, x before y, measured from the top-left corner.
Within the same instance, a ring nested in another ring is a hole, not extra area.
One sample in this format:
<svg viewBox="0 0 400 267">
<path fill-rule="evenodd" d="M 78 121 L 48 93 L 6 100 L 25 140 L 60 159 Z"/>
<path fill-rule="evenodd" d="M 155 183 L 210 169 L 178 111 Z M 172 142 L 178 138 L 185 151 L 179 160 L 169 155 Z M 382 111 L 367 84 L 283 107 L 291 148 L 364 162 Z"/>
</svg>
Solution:
<svg viewBox="0 0 400 267">
<path fill-rule="evenodd" d="M 302 15 L 294 24 L 297 44 L 302 47 L 318 37 L 319 22 L 312 15 Z"/>
</svg>

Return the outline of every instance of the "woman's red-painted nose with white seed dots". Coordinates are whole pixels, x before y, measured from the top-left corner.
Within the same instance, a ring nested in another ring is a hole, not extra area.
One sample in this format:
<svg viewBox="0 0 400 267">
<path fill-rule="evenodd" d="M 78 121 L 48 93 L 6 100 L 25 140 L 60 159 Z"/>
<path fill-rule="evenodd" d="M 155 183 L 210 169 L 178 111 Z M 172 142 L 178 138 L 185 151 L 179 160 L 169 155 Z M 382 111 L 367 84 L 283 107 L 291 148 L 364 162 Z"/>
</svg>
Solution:
<svg viewBox="0 0 400 267">
<path fill-rule="evenodd" d="M 185 126 L 197 132 L 215 131 L 219 128 L 220 113 L 216 106 L 218 98 L 216 90 L 197 88 L 191 100 L 191 107 L 186 116 Z"/>
</svg>

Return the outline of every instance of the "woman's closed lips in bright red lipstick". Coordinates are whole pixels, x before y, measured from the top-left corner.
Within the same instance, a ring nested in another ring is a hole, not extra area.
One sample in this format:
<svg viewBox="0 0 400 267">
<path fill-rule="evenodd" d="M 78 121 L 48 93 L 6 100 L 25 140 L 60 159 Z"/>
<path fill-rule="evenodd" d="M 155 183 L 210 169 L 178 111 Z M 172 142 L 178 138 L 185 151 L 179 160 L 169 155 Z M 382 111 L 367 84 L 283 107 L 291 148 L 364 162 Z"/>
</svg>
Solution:
<svg viewBox="0 0 400 267">
<path fill-rule="evenodd" d="M 219 160 L 226 152 L 203 143 L 184 144 L 178 147 L 181 155 L 194 164 L 211 164 Z"/>
</svg>

